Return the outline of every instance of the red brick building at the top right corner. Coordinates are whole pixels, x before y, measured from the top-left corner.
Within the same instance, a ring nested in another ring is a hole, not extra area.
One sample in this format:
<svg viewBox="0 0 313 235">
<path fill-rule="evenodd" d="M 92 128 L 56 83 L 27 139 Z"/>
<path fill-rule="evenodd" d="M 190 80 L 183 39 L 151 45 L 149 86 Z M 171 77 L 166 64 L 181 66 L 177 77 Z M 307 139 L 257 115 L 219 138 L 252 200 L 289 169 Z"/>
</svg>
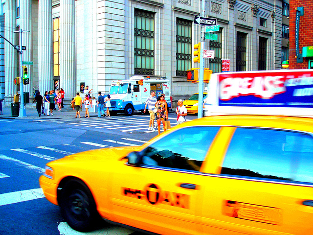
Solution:
<svg viewBox="0 0 313 235">
<path fill-rule="evenodd" d="M 313 69 L 313 1 L 290 1 L 289 24 L 289 69 Z"/>
</svg>

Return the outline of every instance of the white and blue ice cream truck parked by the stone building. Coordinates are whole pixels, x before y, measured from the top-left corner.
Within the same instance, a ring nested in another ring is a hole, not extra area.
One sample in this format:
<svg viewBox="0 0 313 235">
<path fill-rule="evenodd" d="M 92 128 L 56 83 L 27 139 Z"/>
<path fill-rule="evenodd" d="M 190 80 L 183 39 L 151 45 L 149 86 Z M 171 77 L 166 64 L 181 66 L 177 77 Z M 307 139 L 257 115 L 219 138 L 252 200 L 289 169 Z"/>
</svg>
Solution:
<svg viewBox="0 0 313 235">
<path fill-rule="evenodd" d="M 168 79 L 132 76 L 128 80 L 112 81 L 109 93 L 112 105 L 110 113 L 120 112 L 131 116 L 134 110 L 143 112 L 146 99 L 151 94 L 151 91 L 156 92 L 156 97 L 160 94 L 165 94 L 168 108 L 172 107 L 171 83 Z"/>
</svg>

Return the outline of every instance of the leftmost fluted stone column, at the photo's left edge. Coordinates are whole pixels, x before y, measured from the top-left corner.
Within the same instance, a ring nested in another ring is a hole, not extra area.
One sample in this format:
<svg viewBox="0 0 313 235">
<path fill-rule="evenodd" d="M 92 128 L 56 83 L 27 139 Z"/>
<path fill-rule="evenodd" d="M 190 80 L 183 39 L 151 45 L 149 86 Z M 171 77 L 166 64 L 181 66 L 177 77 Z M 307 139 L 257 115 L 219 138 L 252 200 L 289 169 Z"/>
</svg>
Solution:
<svg viewBox="0 0 313 235">
<path fill-rule="evenodd" d="M 6 0 L 5 2 L 5 35 L 4 37 L 13 45 L 17 45 L 16 37 L 16 0 Z M 17 92 L 17 86 L 14 84 L 14 78 L 18 77 L 18 52 L 8 42 L 4 43 L 4 64 L 5 64 L 5 95 L 14 95 Z"/>
</svg>

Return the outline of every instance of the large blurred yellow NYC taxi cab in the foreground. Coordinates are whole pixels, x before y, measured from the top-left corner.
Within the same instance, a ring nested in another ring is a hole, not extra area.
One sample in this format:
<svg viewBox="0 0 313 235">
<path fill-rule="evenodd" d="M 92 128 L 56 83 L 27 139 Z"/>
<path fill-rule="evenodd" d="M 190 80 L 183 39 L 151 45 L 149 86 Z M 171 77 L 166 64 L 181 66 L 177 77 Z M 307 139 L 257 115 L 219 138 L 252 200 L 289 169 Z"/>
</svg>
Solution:
<svg viewBox="0 0 313 235">
<path fill-rule="evenodd" d="M 78 231 L 102 218 L 161 235 L 310 235 L 313 119 L 200 118 L 50 162 L 40 185 Z"/>
</svg>

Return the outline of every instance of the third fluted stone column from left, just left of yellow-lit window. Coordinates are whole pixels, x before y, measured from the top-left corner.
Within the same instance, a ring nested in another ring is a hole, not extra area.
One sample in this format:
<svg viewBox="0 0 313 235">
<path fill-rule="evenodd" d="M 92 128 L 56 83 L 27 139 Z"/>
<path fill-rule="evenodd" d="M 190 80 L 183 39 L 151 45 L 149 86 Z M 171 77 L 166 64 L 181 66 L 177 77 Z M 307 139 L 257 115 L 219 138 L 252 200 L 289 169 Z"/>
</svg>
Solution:
<svg viewBox="0 0 313 235">
<path fill-rule="evenodd" d="M 38 76 L 39 91 L 53 89 L 52 0 L 40 0 L 38 12 Z"/>
</svg>

